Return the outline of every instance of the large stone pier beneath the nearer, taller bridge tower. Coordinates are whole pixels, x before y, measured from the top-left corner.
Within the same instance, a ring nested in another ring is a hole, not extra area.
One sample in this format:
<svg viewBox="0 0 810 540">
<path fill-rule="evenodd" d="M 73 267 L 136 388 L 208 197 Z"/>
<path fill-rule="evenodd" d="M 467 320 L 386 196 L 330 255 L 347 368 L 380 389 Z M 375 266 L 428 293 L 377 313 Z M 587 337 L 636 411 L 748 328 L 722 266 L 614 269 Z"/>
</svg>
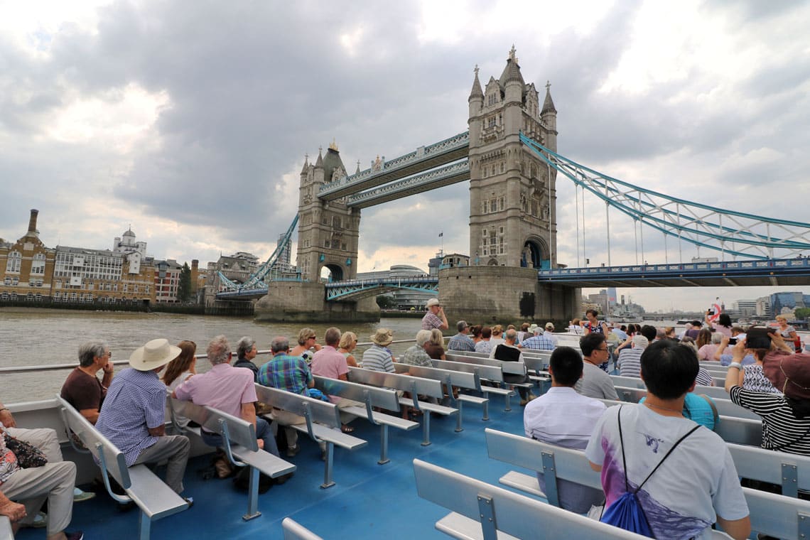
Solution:
<svg viewBox="0 0 810 540">
<path fill-rule="evenodd" d="M 439 300 L 455 321 L 565 323 L 581 317 L 581 289 L 538 283 L 537 270 L 512 266 L 457 266 L 439 271 Z"/>
</svg>

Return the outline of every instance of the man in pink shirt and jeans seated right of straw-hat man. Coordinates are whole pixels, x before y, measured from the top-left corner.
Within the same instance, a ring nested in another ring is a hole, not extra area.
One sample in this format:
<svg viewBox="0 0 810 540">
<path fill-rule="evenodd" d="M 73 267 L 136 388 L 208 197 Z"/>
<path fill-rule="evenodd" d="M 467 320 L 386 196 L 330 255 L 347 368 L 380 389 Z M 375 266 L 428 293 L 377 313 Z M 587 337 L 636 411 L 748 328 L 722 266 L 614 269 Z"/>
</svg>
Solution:
<svg viewBox="0 0 810 540">
<path fill-rule="evenodd" d="M 265 419 L 256 417 L 254 403 L 257 398 L 253 372 L 231 365 L 233 355 L 225 336 L 212 339 L 206 353 L 211 371 L 190 377 L 174 389 L 172 397 L 210 406 L 254 424 L 259 449 L 278 456 L 279 449 L 275 446 L 270 424 Z M 222 445 L 219 434 L 203 430 L 202 435 L 205 444 L 216 447 Z"/>
</svg>

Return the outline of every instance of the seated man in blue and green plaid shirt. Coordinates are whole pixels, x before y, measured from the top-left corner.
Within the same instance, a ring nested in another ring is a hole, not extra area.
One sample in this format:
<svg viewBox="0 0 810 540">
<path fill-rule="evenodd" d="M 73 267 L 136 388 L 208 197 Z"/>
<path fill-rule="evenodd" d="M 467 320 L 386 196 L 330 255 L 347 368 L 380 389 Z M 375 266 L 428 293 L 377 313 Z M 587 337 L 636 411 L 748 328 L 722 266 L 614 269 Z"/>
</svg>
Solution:
<svg viewBox="0 0 810 540">
<path fill-rule="evenodd" d="M 307 389 L 315 386 L 315 379 L 301 356 L 290 355 L 288 338 L 283 336 L 273 338 L 273 341 L 270 342 L 270 351 L 273 358 L 259 368 L 258 383 L 287 392 L 307 395 Z M 317 355 L 318 352 L 315 354 Z M 343 357 L 343 355 L 340 356 Z M 345 359 L 343 360 L 345 361 Z M 306 422 L 303 416 L 275 407 L 273 407 L 271 417 L 281 426 Z M 287 436 L 287 456 L 293 457 L 301 449 L 298 446 L 298 432 L 292 427 L 284 427 L 284 434 Z"/>
</svg>

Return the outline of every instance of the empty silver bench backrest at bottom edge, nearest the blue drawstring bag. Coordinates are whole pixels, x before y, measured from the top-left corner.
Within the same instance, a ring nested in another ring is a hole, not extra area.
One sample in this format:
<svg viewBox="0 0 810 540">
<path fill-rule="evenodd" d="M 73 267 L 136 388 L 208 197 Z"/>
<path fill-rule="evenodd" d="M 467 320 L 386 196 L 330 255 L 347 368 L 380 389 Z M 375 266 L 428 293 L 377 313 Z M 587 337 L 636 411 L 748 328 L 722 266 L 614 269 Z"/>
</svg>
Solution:
<svg viewBox="0 0 810 540">
<path fill-rule="evenodd" d="M 497 531 L 515 538 L 645 538 L 590 520 L 514 491 L 415 459 L 419 496 L 481 523 L 484 538 Z"/>
</svg>

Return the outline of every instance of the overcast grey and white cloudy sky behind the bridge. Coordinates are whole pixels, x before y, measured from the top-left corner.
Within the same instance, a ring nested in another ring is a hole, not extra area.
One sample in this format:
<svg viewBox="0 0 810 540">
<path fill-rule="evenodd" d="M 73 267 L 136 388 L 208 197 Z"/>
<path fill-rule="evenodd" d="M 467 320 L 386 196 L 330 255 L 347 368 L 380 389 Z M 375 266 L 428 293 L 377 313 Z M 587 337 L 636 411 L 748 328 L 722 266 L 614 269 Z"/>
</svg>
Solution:
<svg viewBox="0 0 810 540">
<path fill-rule="evenodd" d="M 334 138 L 352 172 L 467 130 L 473 67 L 499 76 L 513 44 L 524 79 L 552 84 L 561 154 L 689 200 L 810 221 L 804 2 L 0 0 L 0 14 L 6 240 L 37 208 L 49 246 L 109 248 L 131 225 L 155 257 L 263 260 L 296 213 L 305 154 Z M 426 267 L 438 232 L 445 251 L 467 253 L 467 187 L 364 210 L 359 269 Z M 558 258 L 577 266 L 573 185 L 561 177 L 557 193 Z M 599 264 L 603 203 L 584 204 Z M 612 263 L 634 262 L 633 223 L 615 217 Z M 696 255 L 644 236 L 650 262 Z M 770 291 L 620 292 L 699 309 Z"/>
</svg>

